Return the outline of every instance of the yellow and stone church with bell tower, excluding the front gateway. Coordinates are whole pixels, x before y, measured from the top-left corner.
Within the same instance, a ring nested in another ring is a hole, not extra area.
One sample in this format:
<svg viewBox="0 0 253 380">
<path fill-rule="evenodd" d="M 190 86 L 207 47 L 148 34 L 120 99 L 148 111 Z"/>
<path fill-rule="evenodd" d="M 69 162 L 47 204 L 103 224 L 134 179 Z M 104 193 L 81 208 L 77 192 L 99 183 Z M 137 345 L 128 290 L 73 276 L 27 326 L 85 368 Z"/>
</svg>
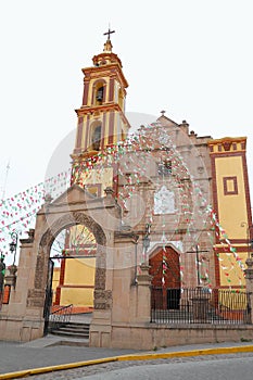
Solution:
<svg viewBox="0 0 253 380">
<path fill-rule="evenodd" d="M 112 188 L 123 207 L 123 224 L 129 224 L 139 236 L 149 225 L 150 273 L 156 287 L 241 289 L 251 226 L 246 138 L 199 137 L 186 121 L 178 124 L 162 112 L 151 126 L 140 126 L 124 147 L 131 131 L 125 115 L 128 84 L 121 60 L 112 52 L 110 35 L 103 52 L 92 62 L 93 66 L 83 69 L 72 182 L 99 198 Z M 129 143 L 135 148 L 126 149 Z M 118 147 L 124 157 L 115 157 Z M 104 151 L 111 152 L 113 164 L 107 164 Z M 78 235 L 76 228 L 68 231 L 72 238 Z M 78 254 L 86 245 L 83 254 L 91 262 L 96 250 L 87 245 L 87 237 L 84 241 L 84 231 L 81 236 Z M 77 239 L 72 240 L 76 251 Z M 138 259 L 140 263 L 142 257 Z M 83 277 L 79 291 L 78 284 L 72 288 L 72 274 L 86 266 L 87 258 L 62 261 L 56 305 L 74 299 L 79 307 L 92 307 L 94 261 L 88 264 L 88 282 Z"/>
</svg>

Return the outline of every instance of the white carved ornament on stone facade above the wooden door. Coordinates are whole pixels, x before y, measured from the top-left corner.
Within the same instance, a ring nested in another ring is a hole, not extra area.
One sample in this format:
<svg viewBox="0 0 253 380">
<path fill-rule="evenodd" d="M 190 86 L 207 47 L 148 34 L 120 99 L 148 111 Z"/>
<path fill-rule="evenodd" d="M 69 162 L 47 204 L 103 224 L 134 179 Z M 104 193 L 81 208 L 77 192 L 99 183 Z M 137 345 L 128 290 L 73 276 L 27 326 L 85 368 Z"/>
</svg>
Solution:
<svg viewBox="0 0 253 380">
<path fill-rule="evenodd" d="M 154 214 L 174 214 L 175 212 L 175 193 L 164 185 L 154 193 Z"/>
</svg>

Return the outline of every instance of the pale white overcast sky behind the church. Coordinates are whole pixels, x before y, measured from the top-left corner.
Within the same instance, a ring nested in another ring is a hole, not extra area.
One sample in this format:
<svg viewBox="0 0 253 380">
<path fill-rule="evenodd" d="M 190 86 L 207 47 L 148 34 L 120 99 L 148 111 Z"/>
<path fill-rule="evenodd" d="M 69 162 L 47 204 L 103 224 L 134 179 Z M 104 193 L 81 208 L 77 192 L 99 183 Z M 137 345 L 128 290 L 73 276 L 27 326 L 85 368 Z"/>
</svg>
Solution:
<svg viewBox="0 0 253 380">
<path fill-rule="evenodd" d="M 129 83 L 127 112 L 166 110 L 199 136 L 248 136 L 252 166 L 252 8 L 251 0 L 1 1 L 0 195 L 43 181 L 62 141 L 72 150 L 81 67 L 102 52 L 109 23 Z"/>
</svg>

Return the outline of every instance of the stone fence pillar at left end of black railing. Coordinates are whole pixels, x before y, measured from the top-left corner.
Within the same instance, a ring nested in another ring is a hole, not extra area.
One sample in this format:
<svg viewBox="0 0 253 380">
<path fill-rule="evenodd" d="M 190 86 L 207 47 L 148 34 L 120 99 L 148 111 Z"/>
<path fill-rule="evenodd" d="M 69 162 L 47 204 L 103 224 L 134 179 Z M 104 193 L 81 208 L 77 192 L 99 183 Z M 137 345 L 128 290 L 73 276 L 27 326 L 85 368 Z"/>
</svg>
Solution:
<svg viewBox="0 0 253 380">
<path fill-rule="evenodd" d="M 137 296 L 137 318 L 138 322 L 150 322 L 151 320 L 151 279 L 149 265 L 146 263 L 140 266 L 141 274 L 137 276 L 138 296 Z"/>
</svg>

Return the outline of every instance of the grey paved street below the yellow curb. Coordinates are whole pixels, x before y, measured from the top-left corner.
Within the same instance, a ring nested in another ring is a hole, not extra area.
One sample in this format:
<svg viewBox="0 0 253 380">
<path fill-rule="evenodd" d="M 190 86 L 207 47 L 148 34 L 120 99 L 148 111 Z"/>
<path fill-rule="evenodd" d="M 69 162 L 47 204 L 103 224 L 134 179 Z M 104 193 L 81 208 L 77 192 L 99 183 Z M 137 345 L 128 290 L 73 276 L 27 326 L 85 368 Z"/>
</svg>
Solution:
<svg viewBox="0 0 253 380">
<path fill-rule="evenodd" d="M 117 362 L 33 377 L 36 380 L 252 380 L 253 353 Z"/>
</svg>

